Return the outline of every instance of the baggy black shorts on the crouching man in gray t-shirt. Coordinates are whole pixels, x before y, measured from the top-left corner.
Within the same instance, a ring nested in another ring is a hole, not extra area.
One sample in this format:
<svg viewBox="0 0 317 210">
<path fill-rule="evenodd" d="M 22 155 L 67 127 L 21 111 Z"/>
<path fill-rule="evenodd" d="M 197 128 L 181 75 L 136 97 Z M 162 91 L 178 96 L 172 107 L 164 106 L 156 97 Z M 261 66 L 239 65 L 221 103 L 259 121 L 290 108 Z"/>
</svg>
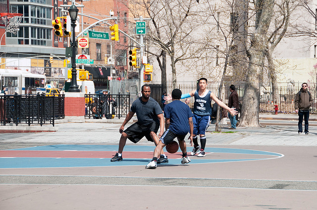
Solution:
<svg viewBox="0 0 317 210">
<path fill-rule="evenodd" d="M 153 131 L 157 133 L 159 130 L 159 124 L 155 121 L 150 123 L 147 126 L 139 125 L 138 123 L 134 123 L 132 126 L 129 126 L 123 132 L 125 132 L 129 137 L 128 139 L 133 143 L 137 143 L 144 136 L 148 139 L 148 141 L 152 141 L 153 139 L 150 136 L 150 132 Z"/>
</svg>

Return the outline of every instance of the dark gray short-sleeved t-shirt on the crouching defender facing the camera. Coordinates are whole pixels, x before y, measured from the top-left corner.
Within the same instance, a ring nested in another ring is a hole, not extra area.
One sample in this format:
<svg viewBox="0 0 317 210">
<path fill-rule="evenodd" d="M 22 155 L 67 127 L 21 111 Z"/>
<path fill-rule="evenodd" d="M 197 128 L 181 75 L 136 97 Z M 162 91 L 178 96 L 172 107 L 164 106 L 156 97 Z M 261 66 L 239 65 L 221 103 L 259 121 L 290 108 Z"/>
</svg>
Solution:
<svg viewBox="0 0 317 210">
<path fill-rule="evenodd" d="M 142 97 L 139 97 L 133 101 L 130 108 L 131 112 L 137 114 L 138 124 L 147 126 L 153 121 L 159 123 L 157 115 L 162 114 L 159 103 L 151 97 L 147 102 L 143 102 L 141 98 Z"/>
</svg>

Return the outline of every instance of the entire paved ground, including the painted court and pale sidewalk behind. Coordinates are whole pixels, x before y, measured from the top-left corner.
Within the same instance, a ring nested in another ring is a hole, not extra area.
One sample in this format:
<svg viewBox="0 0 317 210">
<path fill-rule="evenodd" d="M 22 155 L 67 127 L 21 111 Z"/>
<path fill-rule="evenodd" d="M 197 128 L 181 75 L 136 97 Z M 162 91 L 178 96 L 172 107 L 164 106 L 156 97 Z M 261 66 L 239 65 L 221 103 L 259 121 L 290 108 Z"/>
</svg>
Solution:
<svg viewBox="0 0 317 210">
<path fill-rule="evenodd" d="M 297 115 L 261 114 L 262 127 L 236 130 L 227 120 L 221 132 L 211 125 L 205 158 L 181 165 L 181 153 L 166 153 L 157 169 L 145 169 L 154 149 L 146 139 L 127 141 L 123 161 L 109 161 L 123 120 L 0 126 L 17 131 L 0 133 L 0 209 L 317 208 L 317 116 L 309 135 L 297 133 Z"/>
</svg>

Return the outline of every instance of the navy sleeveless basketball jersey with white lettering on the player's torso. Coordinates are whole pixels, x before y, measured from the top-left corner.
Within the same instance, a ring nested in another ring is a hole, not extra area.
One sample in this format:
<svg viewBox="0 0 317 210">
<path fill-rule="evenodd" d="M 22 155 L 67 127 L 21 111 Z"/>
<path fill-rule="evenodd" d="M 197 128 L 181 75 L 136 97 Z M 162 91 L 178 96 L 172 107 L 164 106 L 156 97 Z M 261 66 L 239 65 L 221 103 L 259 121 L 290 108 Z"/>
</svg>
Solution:
<svg viewBox="0 0 317 210">
<path fill-rule="evenodd" d="M 198 94 L 198 90 L 195 91 L 194 97 L 194 114 L 205 116 L 205 115 L 211 115 L 211 98 L 210 98 L 211 91 L 206 90 L 205 94 L 200 97 Z"/>
</svg>

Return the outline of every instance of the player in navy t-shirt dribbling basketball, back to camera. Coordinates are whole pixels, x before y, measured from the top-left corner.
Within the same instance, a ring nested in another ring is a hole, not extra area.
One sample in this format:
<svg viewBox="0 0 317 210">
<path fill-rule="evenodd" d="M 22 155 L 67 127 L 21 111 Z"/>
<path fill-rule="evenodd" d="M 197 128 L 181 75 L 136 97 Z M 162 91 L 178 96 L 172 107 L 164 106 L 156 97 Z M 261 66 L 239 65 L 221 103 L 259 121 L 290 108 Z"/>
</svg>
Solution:
<svg viewBox="0 0 317 210">
<path fill-rule="evenodd" d="M 160 151 L 164 146 L 171 143 L 177 137 L 179 147 L 183 153 L 182 164 L 187 164 L 190 159 L 187 156 L 185 137 L 190 131 L 190 143 L 193 142 L 193 113 L 189 106 L 179 99 L 182 95 L 180 89 L 172 91 L 173 102 L 167 104 L 164 108 L 165 132 L 159 139 L 159 144 L 154 150 L 152 161 L 145 168 L 157 168 L 157 161 Z"/>
</svg>

